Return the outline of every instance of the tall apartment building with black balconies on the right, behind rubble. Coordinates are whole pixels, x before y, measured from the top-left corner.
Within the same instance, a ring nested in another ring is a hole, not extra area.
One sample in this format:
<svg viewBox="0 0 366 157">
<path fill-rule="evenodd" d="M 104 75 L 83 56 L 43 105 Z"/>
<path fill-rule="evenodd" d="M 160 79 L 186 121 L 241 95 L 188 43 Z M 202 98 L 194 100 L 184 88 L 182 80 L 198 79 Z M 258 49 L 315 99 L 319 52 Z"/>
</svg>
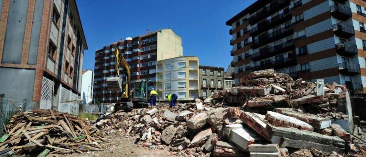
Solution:
<svg viewBox="0 0 366 157">
<path fill-rule="evenodd" d="M 229 19 L 235 84 L 274 68 L 366 92 L 366 1 L 257 0 Z"/>
</svg>

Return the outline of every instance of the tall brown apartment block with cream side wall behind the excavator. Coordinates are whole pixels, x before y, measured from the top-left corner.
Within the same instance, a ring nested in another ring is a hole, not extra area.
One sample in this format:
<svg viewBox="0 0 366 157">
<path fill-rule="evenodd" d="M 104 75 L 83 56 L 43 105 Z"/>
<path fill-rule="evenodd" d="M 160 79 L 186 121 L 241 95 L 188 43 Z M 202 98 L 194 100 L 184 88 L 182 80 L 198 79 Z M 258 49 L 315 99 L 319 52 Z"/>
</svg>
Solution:
<svg viewBox="0 0 366 157">
<path fill-rule="evenodd" d="M 183 55 L 182 38 L 172 29 L 161 29 L 152 33 L 147 31 L 144 35 L 127 37 L 126 40 L 121 39 L 97 50 L 94 66 L 96 102 L 113 103 L 121 99 L 122 93 L 109 91 L 106 82 L 108 77 L 117 74 L 116 48 L 130 65 L 132 88 L 135 80 L 146 79 L 150 80 L 149 90 L 155 87 L 156 61 Z M 122 67 L 120 67 L 120 77 L 125 77 Z M 126 82 L 123 81 L 123 85 L 125 84 Z"/>
</svg>

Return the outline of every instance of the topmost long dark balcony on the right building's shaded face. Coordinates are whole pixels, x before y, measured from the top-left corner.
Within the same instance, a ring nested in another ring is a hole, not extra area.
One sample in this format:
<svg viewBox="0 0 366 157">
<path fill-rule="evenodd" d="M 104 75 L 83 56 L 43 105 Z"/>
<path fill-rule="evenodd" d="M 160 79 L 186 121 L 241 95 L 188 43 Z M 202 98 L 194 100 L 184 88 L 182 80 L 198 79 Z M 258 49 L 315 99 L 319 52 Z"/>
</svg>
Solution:
<svg viewBox="0 0 366 157">
<path fill-rule="evenodd" d="M 250 17 L 249 24 L 254 25 L 258 21 L 261 21 L 262 19 L 269 17 L 270 15 L 281 10 L 285 6 L 290 6 L 290 0 L 277 0 L 275 2 L 272 2 L 270 6 L 264 7 L 261 11 L 257 12 L 257 14 Z"/>
</svg>

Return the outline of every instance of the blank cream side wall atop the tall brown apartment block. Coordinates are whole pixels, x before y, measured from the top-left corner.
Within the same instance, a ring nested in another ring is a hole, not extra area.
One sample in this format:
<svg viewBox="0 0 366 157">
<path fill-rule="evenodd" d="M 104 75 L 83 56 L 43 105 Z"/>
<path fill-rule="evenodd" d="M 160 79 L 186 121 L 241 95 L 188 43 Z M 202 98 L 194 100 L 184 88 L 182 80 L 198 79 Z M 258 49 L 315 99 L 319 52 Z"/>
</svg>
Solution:
<svg viewBox="0 0 366 157">
<path fill-rule="evenodd" d="M 172 29 L 157 32 L 157 61 L 183 56 L 182 37 Z"/>
</svg>

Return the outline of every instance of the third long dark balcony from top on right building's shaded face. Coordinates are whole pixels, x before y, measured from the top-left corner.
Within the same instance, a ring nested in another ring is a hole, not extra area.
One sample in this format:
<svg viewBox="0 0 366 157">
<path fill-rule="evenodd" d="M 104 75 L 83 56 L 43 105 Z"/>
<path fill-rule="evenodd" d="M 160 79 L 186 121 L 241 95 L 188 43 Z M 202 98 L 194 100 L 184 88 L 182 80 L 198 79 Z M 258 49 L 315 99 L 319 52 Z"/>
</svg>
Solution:
<svg viewBox="0 0 366 157">
<path fill-rule="evenodd" d="M 288 25 L 287 27 L 281 28 L 272 33 L 266 33 L 266 34 L 260 35 L 260 36 L 258 36 L 258 39 L 256 39 L 256 40 L 254 40 L 254 37 L 253 37 L 253 40 L 252 40 L 253 42 L 251 44 L 251 48 L 255 49 L 255 48 L 261 47 L 265 44 L 272 43 L 273 41 L 287 37 L 293 33 L 294 33 L 294 31 L 293 31 L 292 25 Z"/>
</svg>

